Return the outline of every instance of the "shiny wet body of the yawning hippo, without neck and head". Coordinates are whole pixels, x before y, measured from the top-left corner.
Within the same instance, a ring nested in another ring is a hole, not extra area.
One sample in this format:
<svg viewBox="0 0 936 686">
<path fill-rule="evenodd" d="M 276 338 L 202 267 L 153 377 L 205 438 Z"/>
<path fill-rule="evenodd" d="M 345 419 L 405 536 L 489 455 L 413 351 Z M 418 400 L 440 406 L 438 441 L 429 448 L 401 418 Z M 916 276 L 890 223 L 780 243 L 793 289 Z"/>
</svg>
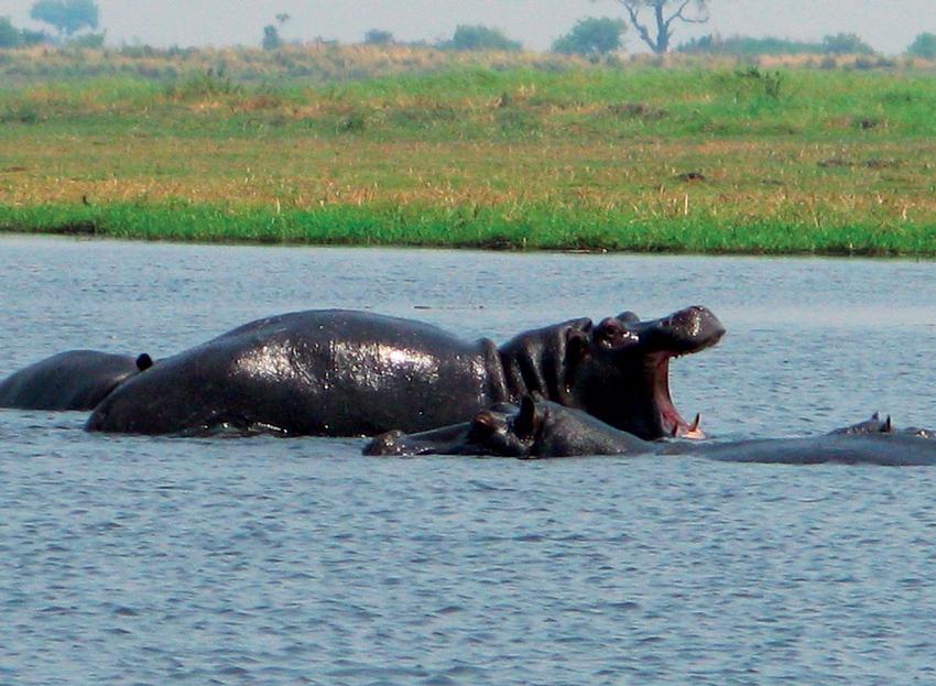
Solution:
<svg viewBox="0 0 936 686">
<path fill-rule="evenodd" d="M 311 311 L 252 322 L 161 361 L 108 398 L 87 428 L 412 432 L 471 416 L 504 393 L 490 340 L 369 313 Z"/>
</svg>

